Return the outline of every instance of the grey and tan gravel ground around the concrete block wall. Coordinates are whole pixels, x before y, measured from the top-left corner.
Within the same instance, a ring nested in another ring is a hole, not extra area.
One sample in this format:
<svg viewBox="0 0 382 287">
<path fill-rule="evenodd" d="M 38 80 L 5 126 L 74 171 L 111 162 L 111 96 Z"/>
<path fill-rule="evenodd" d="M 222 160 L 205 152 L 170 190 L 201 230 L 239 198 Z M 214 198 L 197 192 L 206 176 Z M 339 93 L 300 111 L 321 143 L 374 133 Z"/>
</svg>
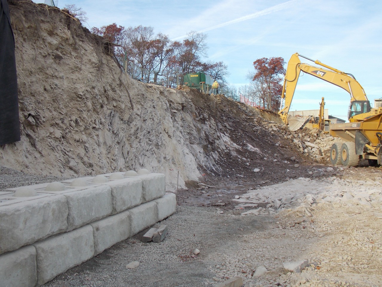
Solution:
<svg viewBox="0 0 382 287">
<path fill-rule="evenodd" d="M 14 187 L 14 176 L 18 177 L 16 186 L 58 180 L 0 171 L 5 175 L 0 190 Z M 242 277 L 246 287 L 381 286 L 381 175 L 381 168 L 349 168 L 337 177 L 309 179 L 312 187 L 325 187 L 322 194 L 317 189 L 308 191 L 291 208 L 275 210 L 269 205 L 256 214 L 241 215 L 247 211 L 243 209 L 178 206 L 175 214 L 154 225 L 168 225 L 162 242 L 142 243 L 144 230 L 44 286 L 200 287 L 216 286 L 234 276 Z M 285 188 L 274 185 L 272 196 L 277 189 L 280 197 L 285 196 Z M 296 185 L 296 191 L 299 188 Z M 354 198 L 345 200 L 350 193 Z M 195 249 L 200 253 L 193 254 Z M 284 263 L 300 260 L 308 261 L 302 272 L 284 268 Z M 126 269 L 132 261 L 139 266 Z M 266 270 L 259 276 L 258 267 Z"/>
</svg>

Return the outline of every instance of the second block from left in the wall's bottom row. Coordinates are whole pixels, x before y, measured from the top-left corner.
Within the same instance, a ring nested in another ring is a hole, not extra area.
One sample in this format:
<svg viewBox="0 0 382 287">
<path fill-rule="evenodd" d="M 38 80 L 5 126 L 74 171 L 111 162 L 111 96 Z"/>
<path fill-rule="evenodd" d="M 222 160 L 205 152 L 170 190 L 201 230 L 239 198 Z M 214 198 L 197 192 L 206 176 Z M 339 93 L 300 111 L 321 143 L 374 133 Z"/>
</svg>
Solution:
<svg viewBox="0 0 382 287">
<path fill-rule="evenodd" d="M 37 252 L 37 286 L 40 286 L 93 257 L 93 228 L 85 225 L 33 245 Z"/>
</svg>

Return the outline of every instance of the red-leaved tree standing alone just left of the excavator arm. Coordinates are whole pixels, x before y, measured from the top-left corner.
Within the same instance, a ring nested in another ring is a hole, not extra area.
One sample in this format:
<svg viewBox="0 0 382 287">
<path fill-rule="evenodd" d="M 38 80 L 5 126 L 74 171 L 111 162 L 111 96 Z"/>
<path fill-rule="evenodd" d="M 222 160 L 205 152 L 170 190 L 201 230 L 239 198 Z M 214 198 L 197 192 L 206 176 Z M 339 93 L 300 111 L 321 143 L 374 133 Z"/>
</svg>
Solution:
<svg viewBox="0 0 382 287">
<path fill-rule="evenodd" d="M 263 108 L 277 111 L 282 93 L 282 76 L 285 75 L 285 60 L 282 57 L 257 59 L 253 62 L 257 93 L 263 101 Z"/>
</svg>

